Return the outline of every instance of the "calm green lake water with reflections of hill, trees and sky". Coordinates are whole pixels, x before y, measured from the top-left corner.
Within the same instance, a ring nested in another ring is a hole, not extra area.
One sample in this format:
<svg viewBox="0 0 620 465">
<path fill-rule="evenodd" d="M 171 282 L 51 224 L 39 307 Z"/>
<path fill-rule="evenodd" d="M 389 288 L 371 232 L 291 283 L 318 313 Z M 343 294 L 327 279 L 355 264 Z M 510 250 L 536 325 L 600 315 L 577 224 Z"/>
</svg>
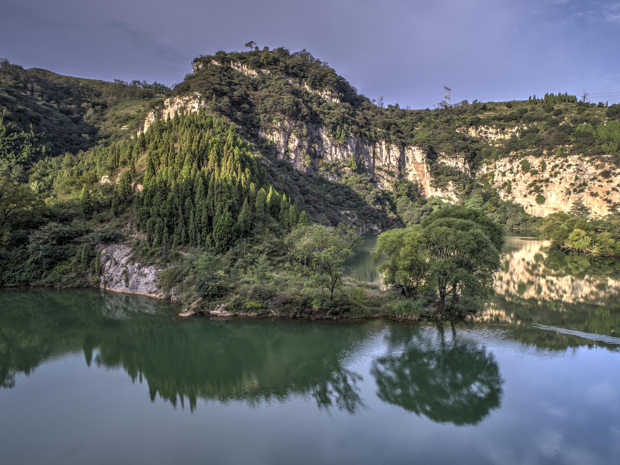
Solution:
<svg viewBox="0 0 620 465">
<path fill-rule="evenodd" d="M 0 463 L 619 464 L 618 263 L 507 249 L 443 326 L 2 290 Z"/>
</svg>

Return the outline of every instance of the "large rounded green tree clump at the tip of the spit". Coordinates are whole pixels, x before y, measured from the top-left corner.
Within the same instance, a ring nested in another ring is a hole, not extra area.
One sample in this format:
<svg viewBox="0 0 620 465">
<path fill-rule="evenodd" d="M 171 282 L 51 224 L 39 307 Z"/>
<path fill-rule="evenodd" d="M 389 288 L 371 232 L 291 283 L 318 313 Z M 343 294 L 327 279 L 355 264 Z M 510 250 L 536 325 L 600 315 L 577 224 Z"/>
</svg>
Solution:
<svg viewBox="0 0 620 465">
<path fill-rule="evenodd" d="M 379 235 L 373 257 L 386 259 L 379 270 L 405 296 L 433 289 L 439 297 L 435 317 L 441 319 L 447 298 L 451 309 L 463 311 L 492 293 L 504 242 L 503 229 L 485 213 L 453 206 L 420 226 Z"/>
</svg>

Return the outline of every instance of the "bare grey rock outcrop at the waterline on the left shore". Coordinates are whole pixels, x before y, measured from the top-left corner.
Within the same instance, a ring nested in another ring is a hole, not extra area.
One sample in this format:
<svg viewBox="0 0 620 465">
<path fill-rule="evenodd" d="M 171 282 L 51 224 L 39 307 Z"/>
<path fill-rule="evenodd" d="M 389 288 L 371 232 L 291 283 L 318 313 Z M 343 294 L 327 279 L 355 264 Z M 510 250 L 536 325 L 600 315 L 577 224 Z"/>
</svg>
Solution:
<svg viewBox="0 0 620 465">
<path fill-rule="evenodd" d="M 101 275 L 99 286 L 110 291 L 167 298 L 157 286 L 160 268 L 143 266 L 131 257 L 130 247 L 122 244 L 101 250 Z"/>
</svg>

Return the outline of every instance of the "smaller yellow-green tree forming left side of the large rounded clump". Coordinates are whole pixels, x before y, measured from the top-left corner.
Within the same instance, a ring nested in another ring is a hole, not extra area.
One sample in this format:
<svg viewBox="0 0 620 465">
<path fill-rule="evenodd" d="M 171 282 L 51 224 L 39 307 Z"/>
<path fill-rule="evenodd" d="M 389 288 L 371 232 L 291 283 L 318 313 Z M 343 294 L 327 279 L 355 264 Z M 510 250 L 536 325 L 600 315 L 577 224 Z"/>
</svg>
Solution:
<svg viewBox="0 0 620 465">
<path fill-rule="evenodd" d="M 427 285 L 429 256 L 419 226 L 379 234 L 371 255 L 374 260 L 385 260 L 378 271 L 384 274 L 386 285 L 401 288 L 406 298 Z"/>
</svg>

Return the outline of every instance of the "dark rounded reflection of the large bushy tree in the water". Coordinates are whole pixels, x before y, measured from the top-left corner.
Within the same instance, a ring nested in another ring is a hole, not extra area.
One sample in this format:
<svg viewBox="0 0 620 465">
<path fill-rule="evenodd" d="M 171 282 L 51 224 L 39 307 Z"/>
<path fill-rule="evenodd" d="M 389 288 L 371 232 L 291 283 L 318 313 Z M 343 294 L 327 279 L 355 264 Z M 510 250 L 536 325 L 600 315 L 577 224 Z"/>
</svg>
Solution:
<svg viewBox="0 0 620 465">
<path fill-rule="evenodd" d="M 423 328 L 394 326 L 373 361 L 379 399 L 440 423 L 475 425 L 500 406 L 503 380 L 484 347 Z"/>
</svg>

